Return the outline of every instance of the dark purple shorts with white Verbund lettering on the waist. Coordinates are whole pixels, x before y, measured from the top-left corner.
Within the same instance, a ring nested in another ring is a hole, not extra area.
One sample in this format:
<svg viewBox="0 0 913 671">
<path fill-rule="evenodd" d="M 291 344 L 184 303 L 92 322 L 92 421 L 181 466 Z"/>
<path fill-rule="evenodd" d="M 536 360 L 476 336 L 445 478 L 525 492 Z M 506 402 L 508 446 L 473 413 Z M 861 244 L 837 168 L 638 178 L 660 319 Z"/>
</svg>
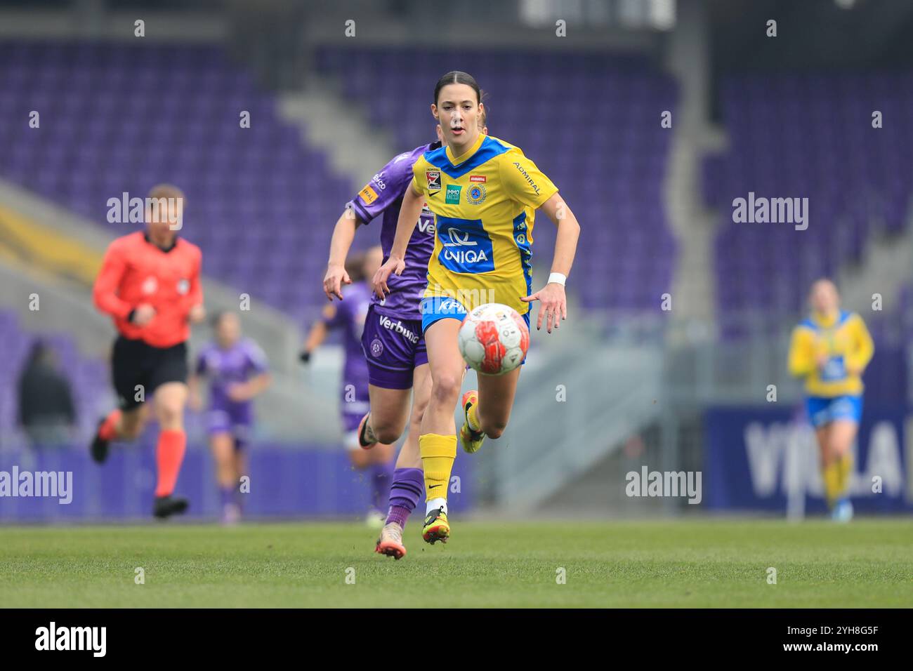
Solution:
<svg viewBox="0 0 913 671">
<path fill-rule="evenodd" d="M 362 332 L 368 382 L 383 389 L 412 389 L 412 373 L 428 362 L 422 320 L 401 320 L 368 309 Z"/>
</svg>

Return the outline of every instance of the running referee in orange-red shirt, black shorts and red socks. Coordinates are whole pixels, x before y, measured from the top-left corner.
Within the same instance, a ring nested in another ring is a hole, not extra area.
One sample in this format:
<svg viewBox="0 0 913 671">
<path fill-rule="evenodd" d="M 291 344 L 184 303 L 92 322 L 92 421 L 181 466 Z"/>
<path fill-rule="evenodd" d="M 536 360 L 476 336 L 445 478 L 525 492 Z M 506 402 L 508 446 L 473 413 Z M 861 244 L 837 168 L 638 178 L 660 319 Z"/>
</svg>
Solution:
<svg viewBox="0 0 913 671">
<path fill-rule="evenodd" d="M 102 419 L 91 445 L 98 463 L 112 440 L 133 440 L 148 418 L 152 398 L 159 422 L 152 514 L 183 513 L 186 498 L 173 497 L 187 437 L 187 339 L 190 323 L 205 319 L 200 286 L 200 248 L 177 235 L 184 194 L 171 184 L 152 188 L 146 201 L 146 230 L 108 246 L 92 296 L 109 314 L 119 335 L 111 356 L 118 408 Z"/>
</svg>

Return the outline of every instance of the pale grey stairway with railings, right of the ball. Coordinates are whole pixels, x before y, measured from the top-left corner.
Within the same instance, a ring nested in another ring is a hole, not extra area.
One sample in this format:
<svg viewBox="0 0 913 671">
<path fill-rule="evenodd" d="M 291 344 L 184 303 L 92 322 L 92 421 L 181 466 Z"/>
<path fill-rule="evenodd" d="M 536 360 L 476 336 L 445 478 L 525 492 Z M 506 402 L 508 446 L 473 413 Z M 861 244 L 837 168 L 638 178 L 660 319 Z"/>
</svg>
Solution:
<svg viewBox="0 0 913 671">
<path fill-rule="evenodd" d="M 494 503 L 512 512 L 560 497 L 655 425 L 664 407 L 661 342 L 610 345 L 592 317 L 537 335 L 548 353 L 530 354 L 510 425 L 489 457 Z"/>
</svg>

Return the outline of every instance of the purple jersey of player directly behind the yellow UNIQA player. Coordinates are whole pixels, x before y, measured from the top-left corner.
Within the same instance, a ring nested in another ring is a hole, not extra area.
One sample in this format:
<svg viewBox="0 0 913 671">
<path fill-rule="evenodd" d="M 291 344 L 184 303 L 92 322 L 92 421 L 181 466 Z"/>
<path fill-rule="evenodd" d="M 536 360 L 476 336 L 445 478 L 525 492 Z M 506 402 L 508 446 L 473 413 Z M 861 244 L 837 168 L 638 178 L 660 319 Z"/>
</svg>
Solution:
<svg viewBox="0 0 913 671">
<path fill-rule="evenodd" d="M 440 142 L 424 144 L 411 152 L 399 154 L 393 161 L 384 165 L 349 203 L 365 224 L 374 217 L 383 215 L 381 247 L 384 261 L 390 257 L 390 249 L 394 246 L 396 221 L 399 219 L 405 190 L 412 182 L 412 166 L 423 153 L 440 146 Z M 418 225 L 409 238 L 409 246 L 405 250 L 403 274 L 391 275 L 387 279 L 390 293 L 385 299 L 372 296 L 374 311 L 401 320 L 422 319 L 421 302 L 425 287 L 428 285 L 428 259 L 434 250 L 435 215 L 425 204 Z"/>
</svg>

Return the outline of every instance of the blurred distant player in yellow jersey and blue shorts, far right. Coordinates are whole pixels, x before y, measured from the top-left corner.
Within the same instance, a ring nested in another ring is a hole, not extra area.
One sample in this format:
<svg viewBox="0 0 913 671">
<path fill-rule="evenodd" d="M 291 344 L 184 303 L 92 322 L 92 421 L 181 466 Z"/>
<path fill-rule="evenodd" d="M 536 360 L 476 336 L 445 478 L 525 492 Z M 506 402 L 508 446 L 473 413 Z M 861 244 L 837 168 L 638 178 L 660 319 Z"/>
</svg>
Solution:
<svg viewBox="0 0 913 671">
<path fill-rule="evenodd" d="M 840 309 L 829 279 L 812 285 L 812 315 L 792 331 L 790 373 L 805 380 L 805 404 L 821 452 L 824 492 L 831 517 L 853 518 L 848 496 L 855 440 L 862 417 L 862 373 L 875 353 L 866 323 Z"/>
</svg>

